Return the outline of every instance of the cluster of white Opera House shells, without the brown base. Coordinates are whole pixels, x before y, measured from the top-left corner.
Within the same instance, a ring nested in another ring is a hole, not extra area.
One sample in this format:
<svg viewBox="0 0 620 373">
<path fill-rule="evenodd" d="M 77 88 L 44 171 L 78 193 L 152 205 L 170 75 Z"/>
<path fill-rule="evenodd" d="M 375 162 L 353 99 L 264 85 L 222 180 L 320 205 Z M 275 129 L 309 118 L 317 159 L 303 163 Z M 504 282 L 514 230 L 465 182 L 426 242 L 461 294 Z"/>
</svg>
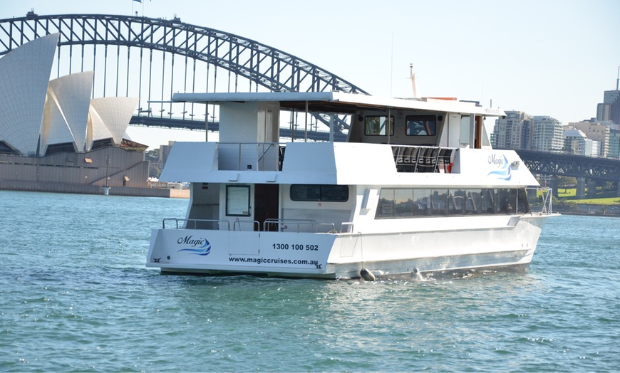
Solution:
<svg viewBox="0 0 620 373">
<path fill-rule="evenodd" d="M 138 98 L 91 99 L 93 71 L 50 81 L 57 43 L 58 34 L 44 36 L 0 58 L 0 153 L 42 157 L 124 143 L 140 148 L 125 134 Z"/>
</svg>

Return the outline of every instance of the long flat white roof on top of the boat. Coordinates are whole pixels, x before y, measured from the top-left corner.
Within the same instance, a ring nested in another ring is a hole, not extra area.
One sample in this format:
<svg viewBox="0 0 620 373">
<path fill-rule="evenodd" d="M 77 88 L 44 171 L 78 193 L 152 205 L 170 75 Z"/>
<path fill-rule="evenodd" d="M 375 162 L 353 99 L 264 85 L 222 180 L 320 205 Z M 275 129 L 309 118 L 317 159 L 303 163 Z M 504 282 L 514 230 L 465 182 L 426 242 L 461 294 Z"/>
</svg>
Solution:
<svg viewBox="0 0 620 373">
<path fill-rule="evenodd" d="M 441 98 L 383 98 L 358 93 L 326 92 L 247 92 L 175 93 L 172 101 L 182 103 L 279 102 L 285 110 L 353 114 L 358 110 L 429 110 L 463 114 L 502 116 L 503 110 L 482 107 L 471 101 Z"/>
</svg>

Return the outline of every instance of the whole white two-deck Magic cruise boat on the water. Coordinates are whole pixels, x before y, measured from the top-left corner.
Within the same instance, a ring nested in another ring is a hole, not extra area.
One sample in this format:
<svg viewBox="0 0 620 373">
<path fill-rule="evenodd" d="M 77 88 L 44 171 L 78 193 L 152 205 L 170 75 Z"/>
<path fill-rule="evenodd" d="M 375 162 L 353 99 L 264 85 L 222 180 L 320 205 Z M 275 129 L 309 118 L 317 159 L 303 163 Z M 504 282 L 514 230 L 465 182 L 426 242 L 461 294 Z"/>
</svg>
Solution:
<svg viewBox="0 0 620 373">
<path fill-rule="evenodd" d="M 153 229 L 146 265 L 162 273 L 527 270 L 553 215 L 549 189 L 529 191 L 538 182 L 517 153 L 490 147 L 483 118 L 502 110 L 338 92 L 173 100 L 219 105 L 219 142 L 172 147 L 160 180 L 190 182 L 190 204 Z M 280 143 L 285 110 L 329 123 L 329 142 Z M 336 126 L 348 127 L 346 141 L 334 141 Z"/>
</svg>

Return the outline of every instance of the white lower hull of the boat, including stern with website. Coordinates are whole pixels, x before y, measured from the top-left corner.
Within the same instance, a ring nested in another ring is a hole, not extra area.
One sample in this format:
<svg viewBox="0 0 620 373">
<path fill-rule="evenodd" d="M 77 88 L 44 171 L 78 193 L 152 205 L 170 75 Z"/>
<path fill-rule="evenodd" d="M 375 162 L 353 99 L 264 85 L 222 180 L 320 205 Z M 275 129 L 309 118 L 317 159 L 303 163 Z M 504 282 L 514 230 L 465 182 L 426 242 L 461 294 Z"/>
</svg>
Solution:
<svg viewBox="0 0 620 373">
<path fill-rule="evenodd" d="M 395 233 L 154 229 L 148 267 L 162 273 L 296 278 L 527 270 L 547 216 L 514 226 Z"/>
</svg>

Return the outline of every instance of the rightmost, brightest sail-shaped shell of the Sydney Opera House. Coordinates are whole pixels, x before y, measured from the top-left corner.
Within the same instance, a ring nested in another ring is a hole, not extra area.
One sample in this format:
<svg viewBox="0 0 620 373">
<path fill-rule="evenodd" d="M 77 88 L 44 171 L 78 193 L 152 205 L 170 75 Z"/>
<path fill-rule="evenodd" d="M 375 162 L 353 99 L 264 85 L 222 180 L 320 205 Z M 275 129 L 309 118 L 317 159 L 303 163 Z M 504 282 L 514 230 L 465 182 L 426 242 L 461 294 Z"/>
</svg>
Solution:
<svg viewBox="0 0 620 373">
<path fill-rule="evenodd" d="M 108 137 L 112 137 L 115 145 L 120 145 L 136 107 L 138 107 L 138 98 L 93 98 L 91 100 L 89 143 L 87 147 L 90 149 L 93 141 Z M 103 125 L 105 125 L 105 130 L 108 130 L 107 133 L 102 128 L 99 128 L 98 123 L 100 122 L 103 122 Z"/>
</svg>

